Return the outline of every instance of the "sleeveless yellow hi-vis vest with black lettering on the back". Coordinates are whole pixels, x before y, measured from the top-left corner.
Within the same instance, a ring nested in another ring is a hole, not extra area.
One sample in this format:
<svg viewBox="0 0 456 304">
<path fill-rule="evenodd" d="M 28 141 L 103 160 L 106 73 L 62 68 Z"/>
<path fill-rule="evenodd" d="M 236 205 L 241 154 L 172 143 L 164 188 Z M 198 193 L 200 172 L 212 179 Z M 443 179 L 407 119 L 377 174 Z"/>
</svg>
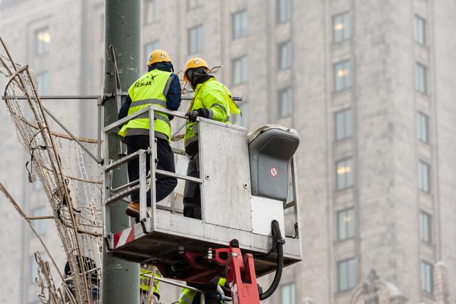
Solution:
<svg viewBox="0 0 456 304">
<path fill-rule="evenodd" d="M 152 69 L 144 74 L 131 85 L 128 95 L 131 98 L 131 105 L 128 115 L 131 115 L 148 105 L 155 105 L 166 109 L 166 95 L 172 82 L 171 72 Z M 122 126 L 119 135 L 148 135 L 149 132 L 148 113 L 141 114 L 137 118 L 130 120 Z M 170 118 L 165 113 L 154 114 L 155 137 L 170 140 L 171 124 Z"/>
</svg>

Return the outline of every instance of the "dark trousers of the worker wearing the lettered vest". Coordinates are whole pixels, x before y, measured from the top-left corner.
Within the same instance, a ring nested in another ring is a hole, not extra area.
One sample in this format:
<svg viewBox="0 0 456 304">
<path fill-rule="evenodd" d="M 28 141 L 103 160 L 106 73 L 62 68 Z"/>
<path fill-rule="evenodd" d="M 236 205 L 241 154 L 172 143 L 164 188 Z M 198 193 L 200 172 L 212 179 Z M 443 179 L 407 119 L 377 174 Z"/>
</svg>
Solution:
<svg viewBox="0 0 456 304">
<path fill-rule="evenodd" d="M 135 153 L 140 149 L 148 149 L 149 136 L 148 135 L 132 135 L 125 138 L 127 155 Z M 157 138 L 157 169 L 169 172 L 176 172 L 174 169 L 174 154 L 172 153 L 170 143 L 168 140 Z M 150 155 L 146 157 L 146 174 L 150 170 Z M 155 182 L 155 195 L 156 201 L 159 202 L 164 199 L 176 188 L 177 180 L 174 177 L 168 177 L 156 174 Z M 128 162 L 128 180 L 133 182 L 139 179 L 139 158 Z M 139 191 L 133 192 L 131 195 L 131 202 L 139 203 Z M 150 206 L 150 191 L 147 192 L 147 206 Z"/>
</svg>

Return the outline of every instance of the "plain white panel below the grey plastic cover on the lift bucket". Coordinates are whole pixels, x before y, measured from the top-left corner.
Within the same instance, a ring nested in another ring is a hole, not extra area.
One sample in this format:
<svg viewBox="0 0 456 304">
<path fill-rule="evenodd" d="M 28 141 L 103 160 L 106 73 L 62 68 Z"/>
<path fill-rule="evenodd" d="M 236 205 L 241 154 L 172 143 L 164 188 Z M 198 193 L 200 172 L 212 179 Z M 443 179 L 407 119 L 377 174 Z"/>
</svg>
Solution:
<svg viewBox="0 0 456 304">
<path fill-rule="evenodd" d="M 285 237 L 284 205 L 282 202 L 266 197 L 252 196 L 252 230 L 258 235 L 271 235 L 271 222 L 279 222 L 282 237 Z"/>
</svg>

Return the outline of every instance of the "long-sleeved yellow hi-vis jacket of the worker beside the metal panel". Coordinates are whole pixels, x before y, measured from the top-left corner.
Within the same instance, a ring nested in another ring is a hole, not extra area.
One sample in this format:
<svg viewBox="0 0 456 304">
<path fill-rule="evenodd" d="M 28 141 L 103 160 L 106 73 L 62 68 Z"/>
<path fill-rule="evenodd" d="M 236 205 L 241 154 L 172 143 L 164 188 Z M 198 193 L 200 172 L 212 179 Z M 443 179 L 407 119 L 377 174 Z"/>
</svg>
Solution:
<svg viewBox="0 0 456 304">
<path fill-rule="evenodd" d="M 205 83 L 196 85 L 194 91 L 195 93 L 188 111 L 201 108 L 209 109 L 209 119 L 226 122 L 227 124 L 231 123 L 229 121 L 229 99 L 231 99 L 231 93 L 223 83 L 210 78 Z M 184 137 L 185 146 L 198 140 L 197 127 L 198 124 L 196 122 L 187 121 L 187 129 L 185 130 Z"/>
</svg>

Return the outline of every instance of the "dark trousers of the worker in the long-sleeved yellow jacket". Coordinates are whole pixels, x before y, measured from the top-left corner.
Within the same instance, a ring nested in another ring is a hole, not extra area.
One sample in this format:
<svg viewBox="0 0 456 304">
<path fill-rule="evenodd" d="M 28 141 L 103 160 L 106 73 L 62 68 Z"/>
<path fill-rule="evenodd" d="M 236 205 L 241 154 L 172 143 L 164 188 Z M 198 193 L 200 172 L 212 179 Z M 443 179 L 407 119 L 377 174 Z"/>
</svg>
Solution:
<svg viewBox="0 0 456 304">
<path fill-rule="evenodd" d="M 196 153 L 190 157 L 187 175 L 199 178 L 199 155 Z M 201 219 L 201 191 L 198 183 L 185 181 L 183 191 L 183 216 Z"/>
</svg>

